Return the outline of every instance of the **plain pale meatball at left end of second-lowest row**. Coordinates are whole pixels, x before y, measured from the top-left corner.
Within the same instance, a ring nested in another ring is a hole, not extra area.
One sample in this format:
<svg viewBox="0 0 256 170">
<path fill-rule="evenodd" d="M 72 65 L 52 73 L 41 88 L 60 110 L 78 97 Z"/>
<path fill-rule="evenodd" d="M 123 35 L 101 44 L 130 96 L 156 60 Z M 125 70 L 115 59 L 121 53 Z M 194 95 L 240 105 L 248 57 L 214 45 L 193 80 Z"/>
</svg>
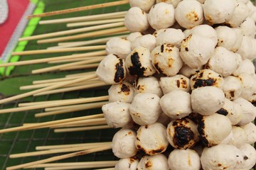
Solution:
<svg viewBox="0 0 256 170">
<path fill-rule="evenodd" d="M 112 139 L 112 151 L 119 158 L 134 157 L 138 150 L 135 146 L 136 132 L 129 129 L 121 129 L 114 134 Z"/>
</svg>

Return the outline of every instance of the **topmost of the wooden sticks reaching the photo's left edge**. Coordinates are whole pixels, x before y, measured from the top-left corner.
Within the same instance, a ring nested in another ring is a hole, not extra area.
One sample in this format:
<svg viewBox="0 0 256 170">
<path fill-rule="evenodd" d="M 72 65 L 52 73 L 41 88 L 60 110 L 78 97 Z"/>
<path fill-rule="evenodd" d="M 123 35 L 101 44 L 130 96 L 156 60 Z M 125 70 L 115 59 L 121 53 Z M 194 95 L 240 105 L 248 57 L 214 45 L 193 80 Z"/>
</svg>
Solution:
<svg viewBox="0 0 256 170">
<path fill-rule="evenodd" d="M 9 66 L 18 66 L 18 65 L 27 65 L 27 64 L 38 64 L 38 63 L 43 63 L 43 62 L 75 59 L 75 58 L 81 58 L 81 57 L 92 57 L 92 56 L 97 56 L 97 55 L 107 55 L 107 52 L 105 50 L 100 50 L 100 51 L 96 51 L 96 52 L 87 52 L 85 54 L 79 54 L 79 55 L 65 55 L 65 56 L 60 56 L 60 57 L 50 57 L 50 58 L 38 59 L 38 60 L 28 60 L 28 61 L 21 61 L 21 62 L 9 62 L 9 63 L 0 64 L 0 67 L 9 67 Z"/>
</svg>

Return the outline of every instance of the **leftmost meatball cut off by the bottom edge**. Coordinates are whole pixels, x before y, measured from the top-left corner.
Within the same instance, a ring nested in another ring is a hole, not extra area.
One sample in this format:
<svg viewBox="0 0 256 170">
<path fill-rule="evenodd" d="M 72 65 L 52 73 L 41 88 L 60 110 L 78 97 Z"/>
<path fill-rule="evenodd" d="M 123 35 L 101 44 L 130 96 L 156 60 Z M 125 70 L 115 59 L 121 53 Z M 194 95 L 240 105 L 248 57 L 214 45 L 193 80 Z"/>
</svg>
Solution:
<svg viewBox="0 0 256 170">
<path fill-rule="evenodd" d="M 136 170 L 139 164 L 139 159 L 137 158 L 124 158 L 119 159 L 117 164 L 114 166 L 114 170 Z"/>
</svg>

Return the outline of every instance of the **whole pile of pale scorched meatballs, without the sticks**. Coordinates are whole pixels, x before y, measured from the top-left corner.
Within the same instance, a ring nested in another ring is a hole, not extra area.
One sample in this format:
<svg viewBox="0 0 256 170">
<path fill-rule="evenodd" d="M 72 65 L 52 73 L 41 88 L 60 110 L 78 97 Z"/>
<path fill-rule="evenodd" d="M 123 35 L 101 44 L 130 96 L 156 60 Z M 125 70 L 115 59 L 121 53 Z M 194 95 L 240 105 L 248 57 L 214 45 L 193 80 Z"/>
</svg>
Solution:
<svg viewBox="0 0 256 170">
<path fill-rule="evenodd" d="M 127 38 L 97 68 L 121 128 L 117 170 L 250 170 L 256 162 L 256 7 L 248 0 L 130 0 Z"/>
</svg>

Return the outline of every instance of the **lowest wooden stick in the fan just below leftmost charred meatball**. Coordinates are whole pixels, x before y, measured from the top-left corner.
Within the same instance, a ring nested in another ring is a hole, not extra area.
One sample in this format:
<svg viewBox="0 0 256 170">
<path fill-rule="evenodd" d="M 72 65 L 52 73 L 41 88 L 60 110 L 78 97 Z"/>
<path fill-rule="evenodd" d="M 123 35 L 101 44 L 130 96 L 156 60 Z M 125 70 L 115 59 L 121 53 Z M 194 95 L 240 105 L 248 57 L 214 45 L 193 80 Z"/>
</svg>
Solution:
<svg viewBox="0 0 256 170">
<path fill-rule="evenodd" d="M 75 87 L 67 87 L 63 89 L 55 89 L 55 90 L 50 90 L 50 91 L 43 91 L 42 93 L 34 94 L 33 96 L 42 96 L 42 95 L 48 95 L 48 94 L 58 94 L 58 93 L 63 93 L 67 91 L 77 91 L 77 90 L 85 90 L 85 89 L 92 89 L 100 86 L 108 86 L 109 84 L 106 84 L 105 82 L 99 82 L 95 84 L 87 84 L 83 86 L 75 86 Z"/>
</svg>

